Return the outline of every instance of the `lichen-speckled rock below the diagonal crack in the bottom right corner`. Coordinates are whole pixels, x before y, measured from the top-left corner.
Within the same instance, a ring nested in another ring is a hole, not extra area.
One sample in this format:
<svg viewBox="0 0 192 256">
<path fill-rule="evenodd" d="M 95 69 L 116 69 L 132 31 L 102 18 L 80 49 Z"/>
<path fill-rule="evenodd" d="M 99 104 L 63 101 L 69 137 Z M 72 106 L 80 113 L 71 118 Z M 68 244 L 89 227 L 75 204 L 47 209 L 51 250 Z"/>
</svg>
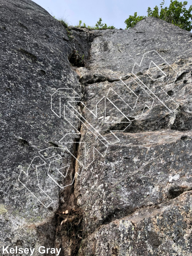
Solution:
<svg viewBox="0 0 192 256">
<path fill-rule="evenodd" d="M 190 255 L 191 192 L 102 225 L 84 240 L 80 255 Z"/>
</svg>

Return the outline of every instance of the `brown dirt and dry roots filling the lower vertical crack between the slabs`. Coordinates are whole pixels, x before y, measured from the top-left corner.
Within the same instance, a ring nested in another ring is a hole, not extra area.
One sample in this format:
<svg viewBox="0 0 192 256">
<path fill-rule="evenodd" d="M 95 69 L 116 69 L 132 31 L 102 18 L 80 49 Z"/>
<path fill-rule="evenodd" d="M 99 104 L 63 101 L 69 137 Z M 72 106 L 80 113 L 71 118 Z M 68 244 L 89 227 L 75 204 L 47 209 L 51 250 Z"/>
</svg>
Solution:
<svg viewBox="0 0 192 256">
<path fill-rule="evenodd" d="M 80 105 L 80 104 L 79 104 Z M 81 106 L 79 106 L 81 109 Z M 81 122 L 78 127 L 79 138 L 73 143 L 73 156 L 71 180 L 78 172 L 78 154 L 81 141 Z M 60 256 L 78 256 L 79 249 L 83 243 L 85 227 L 85 213 L 78 207 L 75 197 L 75 180 L 71 186 L 66 187 L 60 194 L 60 207 L 56 213 L 56 235 L 55 246 L 61 248 Z"/>
</svg>

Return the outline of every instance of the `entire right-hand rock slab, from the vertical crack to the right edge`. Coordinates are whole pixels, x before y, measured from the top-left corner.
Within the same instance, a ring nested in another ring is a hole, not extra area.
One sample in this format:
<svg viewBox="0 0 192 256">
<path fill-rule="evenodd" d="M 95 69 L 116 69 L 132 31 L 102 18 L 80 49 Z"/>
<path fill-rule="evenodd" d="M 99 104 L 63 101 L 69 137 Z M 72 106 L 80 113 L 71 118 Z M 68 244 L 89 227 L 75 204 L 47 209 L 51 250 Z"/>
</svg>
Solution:
<svg viewBox="0 0 192 256">
<path fill-rule="evenodd" d="M 191 54 L 190 32 L 147 18 L 100 32 L 76 69 L 89 124 L 81 126 L 87 168 L 75 183 L 86 213 L 80 255 L 190 255 Z"/>
</svg>

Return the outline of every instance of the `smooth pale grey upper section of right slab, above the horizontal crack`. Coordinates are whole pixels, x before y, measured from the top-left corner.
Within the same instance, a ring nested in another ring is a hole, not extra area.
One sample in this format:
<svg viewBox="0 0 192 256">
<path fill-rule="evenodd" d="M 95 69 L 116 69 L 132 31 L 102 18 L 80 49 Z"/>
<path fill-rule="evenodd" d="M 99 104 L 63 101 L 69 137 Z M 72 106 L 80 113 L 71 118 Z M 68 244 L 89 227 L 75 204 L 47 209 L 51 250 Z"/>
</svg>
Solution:
<svg viewBox="0 0 192 256">
<path fill-rule="evenodd" d="M 156 49 L 169 64 L 191 54 L 192 33 L 168 24 L 165 21 L 148 17 L 128 30 L 102 31 L 91 47 L 91 70 L 131 73 L 134 62 L 140 62 L 143 54 Z"/>
</svg>

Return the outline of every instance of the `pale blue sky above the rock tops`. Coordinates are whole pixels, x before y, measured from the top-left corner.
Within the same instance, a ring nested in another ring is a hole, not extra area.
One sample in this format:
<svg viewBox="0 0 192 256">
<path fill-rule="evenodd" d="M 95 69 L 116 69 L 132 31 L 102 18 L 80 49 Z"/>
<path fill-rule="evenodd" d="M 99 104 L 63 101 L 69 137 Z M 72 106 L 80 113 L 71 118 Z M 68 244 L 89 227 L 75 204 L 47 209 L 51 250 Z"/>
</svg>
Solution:
<svg viewBox="0 0 192 256">
<path fill-rule="evenodd" d="M 137 15 L 147 15 L 147 8 L 152 9 L 162 0 L 33 0 L 52 16 L 63 19 L 69 25 L 82 24 L 95 26 L 99 18 L 108 26 L 124 29 L 124 21 L 137 12 Z M 190 0 L 191 1 L 191 0 Z M 170 0 L 165 0 L 165 6 L 169 6 Z M 189 1 L 187 7 L 189 7 Z"/>
</svg>

